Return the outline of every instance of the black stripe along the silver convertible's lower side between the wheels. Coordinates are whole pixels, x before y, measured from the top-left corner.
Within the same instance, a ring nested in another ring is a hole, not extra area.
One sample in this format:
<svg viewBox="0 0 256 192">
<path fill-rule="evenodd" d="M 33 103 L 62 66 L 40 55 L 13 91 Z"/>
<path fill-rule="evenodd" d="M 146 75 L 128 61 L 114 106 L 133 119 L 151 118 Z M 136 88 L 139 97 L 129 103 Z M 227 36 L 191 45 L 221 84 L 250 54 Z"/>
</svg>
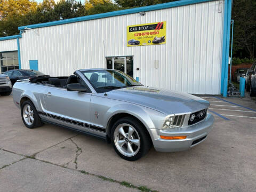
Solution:
<svg viewBox="0 0 256 192">
<path fill-rule="evenodd" d="M 45 113 L 43 111 L 37 111 L 37 112 L 38 112 L 39 115 L 44 115 L 44 116 L 47 116 L 47 117 L 50 117 L 50 118 L 53 118 L 53 119 L 57 119 L 59 121 L 71 123 L 71 124 L 74 124 L 74 125 L 79 125 L 79 126 L 82 126 L 82 127 L 86 127 L 86 128 L 92 129 L 92 130 L 106 132 L 106 129 L 104 129 L 102 127 L 98 127 L 98 126 L 95 126 L 95 125 L 89 125 L 87 123 L 74 121 L 72 119 L 63 118 L 63 117 L 60 117 L 60 116 L 57 116 L 57 115 L 47 114 L 47 113 Z"/>
</svg>

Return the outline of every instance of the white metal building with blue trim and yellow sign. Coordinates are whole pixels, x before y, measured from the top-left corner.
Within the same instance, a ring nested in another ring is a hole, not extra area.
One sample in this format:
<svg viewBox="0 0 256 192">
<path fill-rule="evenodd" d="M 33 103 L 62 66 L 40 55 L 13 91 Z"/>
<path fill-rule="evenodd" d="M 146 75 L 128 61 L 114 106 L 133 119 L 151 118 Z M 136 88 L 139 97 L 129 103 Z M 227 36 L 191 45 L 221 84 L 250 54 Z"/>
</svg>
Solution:
<svg viewBox="0 0 256 192">
<path fill-rule="evenodd" d="M 68 76 L 115 68 L 148 86 L 226 96 L 230 17 L 231 0 L 182 0 L 23 26 L 20 35 L 0 38 L 1 70 Z"/>
</svg>

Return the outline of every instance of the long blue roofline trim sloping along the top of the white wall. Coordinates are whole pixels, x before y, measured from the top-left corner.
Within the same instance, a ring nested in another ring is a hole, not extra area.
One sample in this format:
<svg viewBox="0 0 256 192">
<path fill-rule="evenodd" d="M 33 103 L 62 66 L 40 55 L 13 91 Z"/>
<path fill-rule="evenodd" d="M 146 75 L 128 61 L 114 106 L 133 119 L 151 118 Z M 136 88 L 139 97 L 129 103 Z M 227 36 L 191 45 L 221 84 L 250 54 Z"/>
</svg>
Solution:
<svg viewBox="0 0 256 192">
<path fill-rule="evenodd" d="M 35 25 L 22 26 L 22 27 L 18 27 L 18 29 L 19 30 L 24 30 L 26 28 L 33 29 L 33 28 L 40 28 L 40 27 L 63 25 L 63 24 L 79 22 L 79 21 L 87 21 L 87 20 L 93 20 L 93 19 L 115 17 L 115 16 L 118 16 L 118 15 L 139 13 L 139 12 L 142 12 L 142 11 L 153 11 L 153 10 L 167 9 L 167 8 L 171 8 L 171 7 L 190 5 L 190 4 L 196 4 L 196 3 L 203 3 L 203 2 L 210 2 L 210 1 L 214 1 L 214 0 L 181 0 L 181 1 L 175 1 L 175 2 L 170 2 L 170 3 L 158 4 L 158 5 L 150 5 L 150 6 L 133 8 L 133 9 L 126 9 L 126 10 L 120 10 L 120 11 L 113 11 L 113 12 L 107 12 L 107 13 L 87 15 L 87 16 L 84 16 L 84 17 L 65 19 L 65 20 L 60 20 L 60 21 L 52 21 L 52 22 L 47 22 L 47 23 L 39 23 L 39 24 L 35 24 Z"/>
</svg>

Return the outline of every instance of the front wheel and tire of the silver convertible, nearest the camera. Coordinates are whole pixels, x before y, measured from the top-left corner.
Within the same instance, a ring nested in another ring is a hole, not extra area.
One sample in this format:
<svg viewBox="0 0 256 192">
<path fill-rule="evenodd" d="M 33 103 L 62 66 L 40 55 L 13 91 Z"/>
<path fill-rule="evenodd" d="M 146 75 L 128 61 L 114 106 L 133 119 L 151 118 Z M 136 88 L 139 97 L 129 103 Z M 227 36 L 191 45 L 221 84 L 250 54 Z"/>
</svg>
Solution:
<svg viewBox="0 0 256 192">
<path fill-rule="evenodd" d="M 113 125 L 111 142 L 116 153 L 127 161 L 136 161 L 151 148 L 149 133 L 137 119 L 131 117 L 121 118 Z"/>
</svg>

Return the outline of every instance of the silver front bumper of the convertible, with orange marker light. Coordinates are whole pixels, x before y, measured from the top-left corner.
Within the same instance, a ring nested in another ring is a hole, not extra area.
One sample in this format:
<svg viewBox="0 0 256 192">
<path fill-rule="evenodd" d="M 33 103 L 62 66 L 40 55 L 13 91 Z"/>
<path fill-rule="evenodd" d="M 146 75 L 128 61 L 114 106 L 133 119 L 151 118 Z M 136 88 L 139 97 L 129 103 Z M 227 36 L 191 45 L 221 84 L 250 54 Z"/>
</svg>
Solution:
<svg viewBox="0 0 256 192">
<path fill-rule="evenodd" d="M 207 134 L 211 131 L 214 122 L 214 117 L 207 114 L 206 118 L 195 125 L 188 127 L 180 127 L 177 129 L 157 130 L 148 129 L 153 141 L 154 148 L 157 151 L 172 152 L 187 150 L 204 141 Z M 186 139 L 166 140 L 161 139 L 160 135 L 164 136 L 180 136 L 186 135 Z"/>
</svg>

